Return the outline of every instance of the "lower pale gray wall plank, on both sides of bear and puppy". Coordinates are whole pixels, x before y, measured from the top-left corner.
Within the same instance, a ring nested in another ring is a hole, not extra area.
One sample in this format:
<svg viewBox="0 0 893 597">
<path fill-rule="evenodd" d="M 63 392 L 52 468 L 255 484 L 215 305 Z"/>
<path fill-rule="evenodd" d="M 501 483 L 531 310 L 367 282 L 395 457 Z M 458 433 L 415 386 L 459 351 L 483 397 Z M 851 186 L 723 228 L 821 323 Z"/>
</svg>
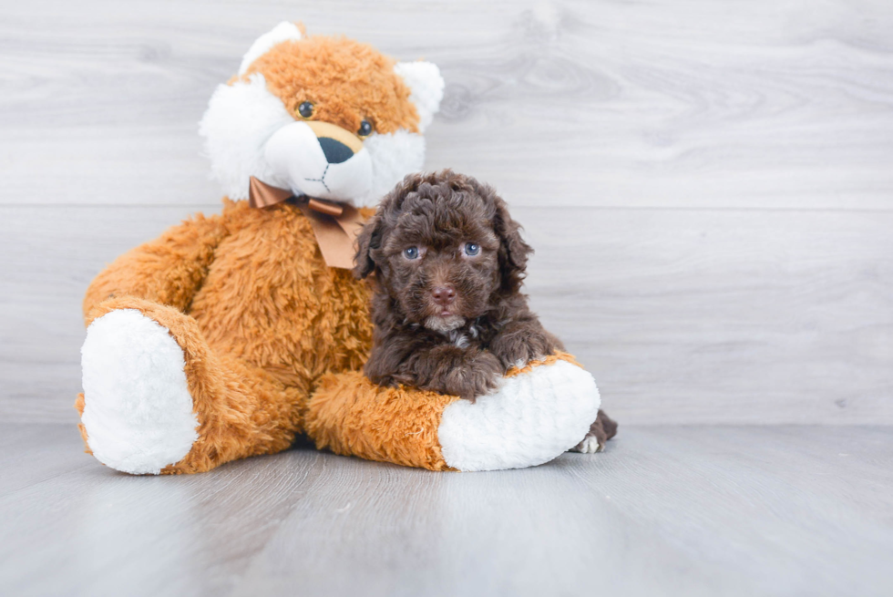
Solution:
<svg viewBox="0 0 893 597">
<path fill-rule="evenodd" d="M 0 208 L 4 420 L 74 420 L 87 284 L 189 211 Z M 893 423 L 893 213 L 514 214 L 534 308 L 621 423 Z"/>
</svg>

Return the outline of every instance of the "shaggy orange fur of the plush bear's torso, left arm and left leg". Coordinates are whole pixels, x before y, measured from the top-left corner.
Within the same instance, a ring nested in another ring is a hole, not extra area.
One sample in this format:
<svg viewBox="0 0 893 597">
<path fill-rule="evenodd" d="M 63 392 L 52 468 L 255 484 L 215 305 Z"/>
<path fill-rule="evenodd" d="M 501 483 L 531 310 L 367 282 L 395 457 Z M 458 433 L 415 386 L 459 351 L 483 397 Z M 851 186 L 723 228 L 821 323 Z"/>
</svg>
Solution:
<svg viewBox="0 0 893 597">
<path fill-rule="evenodd" d="M 318 379 L 365 362 L 367 302 L 363 283 L 325 265 L 298 208 L 226 201 L 220 216 L 118 257 L 90 284 L 84 313 L 90 324 L 137 309 L 183 349 L 200 439 L 162 471 L 180 473 L 288 448 Z"/>
</svg>

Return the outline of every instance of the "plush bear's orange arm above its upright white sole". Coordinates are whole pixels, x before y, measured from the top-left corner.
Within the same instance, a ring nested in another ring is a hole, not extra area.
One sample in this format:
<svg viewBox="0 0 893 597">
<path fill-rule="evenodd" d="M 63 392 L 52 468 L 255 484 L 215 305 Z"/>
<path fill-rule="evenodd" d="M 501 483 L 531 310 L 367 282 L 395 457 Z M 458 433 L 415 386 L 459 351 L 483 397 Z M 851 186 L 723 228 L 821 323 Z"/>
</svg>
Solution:
<svg viewBox="0 0 893 597">
<path fill-rule="evenodd" d="M 87 288 L 83 304 L 86 324 L 95 317 L 91 312 L 98 304 L 119 296 L 135 296 L 188 312 L 227 233 L 221 216 L 199 214 L 119 256 Z"/>
</svg>

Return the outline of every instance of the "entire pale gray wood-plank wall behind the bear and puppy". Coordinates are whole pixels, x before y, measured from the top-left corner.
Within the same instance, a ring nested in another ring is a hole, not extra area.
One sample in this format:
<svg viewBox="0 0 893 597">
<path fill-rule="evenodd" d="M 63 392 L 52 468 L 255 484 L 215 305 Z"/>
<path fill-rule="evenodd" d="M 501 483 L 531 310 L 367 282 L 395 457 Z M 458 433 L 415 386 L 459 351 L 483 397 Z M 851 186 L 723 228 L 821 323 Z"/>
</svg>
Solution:
<svg viewBox="0 0 893 597">
<path fill-rule="evenodd" d="M 283 19 L 441 67 L 427 167 L 511 203 L 621 423 L 893 423 L 893 4 L 851 0 L 5 0 L 3 420 L 75 420 L 87 283 L 218 209 L 197 122 Z"/>
</svg>

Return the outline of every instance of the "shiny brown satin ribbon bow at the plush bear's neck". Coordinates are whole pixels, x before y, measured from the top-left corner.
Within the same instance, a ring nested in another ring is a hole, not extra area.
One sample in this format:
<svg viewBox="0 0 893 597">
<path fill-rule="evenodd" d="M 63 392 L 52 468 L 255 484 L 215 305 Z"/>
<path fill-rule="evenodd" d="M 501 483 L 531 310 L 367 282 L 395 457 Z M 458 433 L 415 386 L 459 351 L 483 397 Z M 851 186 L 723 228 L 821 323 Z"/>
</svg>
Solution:
<svg viewBox="0 0 893 597">
<path fill-rule="evenodd" d="M 248 204 L 255 208 L 270 207 L 294 196 L 291 190 L 273 187 L 251 177 Z M 344 203 L 323 201 L 302 196 L 296 198 L 298 207 L 313 226 L 316 242 L 329 267 L 354 267 L 354 239 L 363 229 L 363 215 Z"/>
</svg>

